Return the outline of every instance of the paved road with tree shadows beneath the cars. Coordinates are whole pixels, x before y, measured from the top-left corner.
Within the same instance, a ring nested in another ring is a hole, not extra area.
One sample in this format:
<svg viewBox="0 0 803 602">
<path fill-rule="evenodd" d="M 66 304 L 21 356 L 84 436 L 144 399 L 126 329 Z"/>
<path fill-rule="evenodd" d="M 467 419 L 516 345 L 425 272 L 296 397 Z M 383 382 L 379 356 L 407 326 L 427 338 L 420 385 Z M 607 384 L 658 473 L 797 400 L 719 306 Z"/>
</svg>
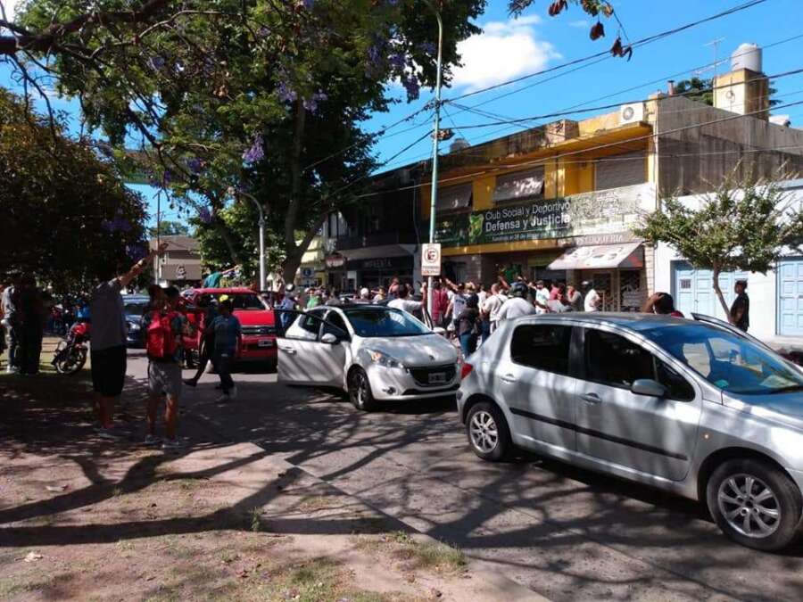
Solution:
<svg viewBox="0 0 803 602">
<path fill-rule="evenodd" d="M 145 375 L 145 361 L 131 359 L 132 372 Z M 213 401 L 216 379 L 204 376 L 186 395 L 189 416 L 548 598 L 803 599 L 803 546 L 783 556 L 741 548 L 691 502 L 531 455 L 484 463 L 468 449 L 453 404 L 360 414 L 275 375 L 236 381 L 240 399 L 224 407 Z"/>
</svg>

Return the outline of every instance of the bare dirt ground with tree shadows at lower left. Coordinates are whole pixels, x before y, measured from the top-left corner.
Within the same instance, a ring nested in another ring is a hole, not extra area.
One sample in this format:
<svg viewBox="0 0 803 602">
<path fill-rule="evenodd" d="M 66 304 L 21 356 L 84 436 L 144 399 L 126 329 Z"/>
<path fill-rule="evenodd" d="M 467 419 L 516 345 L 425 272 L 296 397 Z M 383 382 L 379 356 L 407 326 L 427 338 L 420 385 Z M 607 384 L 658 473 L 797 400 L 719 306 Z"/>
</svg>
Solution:
<svg viewBox="0 0 803 602">
<path fill-rule="evenodd" d="M 0 598 L 511 597 L 458 549 L 192 416 L 179 454 L 137 442 L 130 409 L 130 440 L 97 438 L 87 379 L 0 375 Z M 142 395 L 131 383 L 123 402 Z"/>
</svg>

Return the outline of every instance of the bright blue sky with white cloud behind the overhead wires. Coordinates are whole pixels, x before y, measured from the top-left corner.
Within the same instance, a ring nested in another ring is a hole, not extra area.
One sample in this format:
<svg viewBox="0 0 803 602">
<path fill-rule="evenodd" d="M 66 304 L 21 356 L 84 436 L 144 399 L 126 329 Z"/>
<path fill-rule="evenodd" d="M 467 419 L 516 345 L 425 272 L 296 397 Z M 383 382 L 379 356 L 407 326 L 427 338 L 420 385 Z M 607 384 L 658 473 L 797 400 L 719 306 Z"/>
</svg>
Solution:
<svg viewBox="0 0 803 602">
<path fill-rule="evenodd" d="M 0 0 L 0 2 L 4 3 L 6 8 L 10 4 L 10 0 Z M 658 0 L 612 0 L 612 2 L 620 21 L 625 26 L 627 36 L 632 41 L 742 4 L 742 0 L 705 2 L 675 0 L 673 3 Z M 465 64 L 455 71 L 453 86 L 443 90 L 443 98 L 448 99 L 493 86 L 511 78 L 525 76 L 562 62 L 600 52 L 607 49 L 617 36 L 616 21 L 604 20 L 607 37 L 592 42 L 588 37 L 592 21 L 586 18 L 584 12 L 576 6 L 571 6 L 558 17 L 550 17 L 546 12 L 548 4 L 547 0 L 538 0 L 522 18 L 514 20 L 507 14 L 505 0 L 489 0 L 486 12 L 477 21 L 477 24 L 484 29 L 484 33 L 469 38 L 460 45 L 459 49 L 464 56 Z M 630 62 L 608 58 L 558 78 L 552 78 L 550 81 L 542 80 L 551 78 L 556 73 L 529 78 L 520 84 L 474 95 L 460 102 L 504 118 L 551 113 L 580 104 L 593 106 L 626 102 L 646 97 L 658 89 L 666 89 L 666 79 L 679 80 L 698 75 L 696 71 L 700 66 L 708 65 L 714 60 L 714 49 L 711 45 L 707 45 L 712 40 L 724 38 L 719 43 L 718 49 L 719 58 L 723 59 L 742 42 L 755 42 L 764 47 L 797 35 L 803 35 L 803 2 L 767 0 L 764 4 L 758 4 L 745 11 L 637 48 Z M 765 73 L 772 75 L 803 67 L 803 53 L 799 50 L 801 46 L 803 38 L 766 48 Z M 728 62 L 718 67 L 719 72 L 728 69 Z M 710 77 L 712 73 L 713 70 L 709 69 L 700 75 Z M 9 78 L 9 71 L 3 66 L 0 66 L 0 85 L 14 87 Z M 803 74 L 779 79 L 773 85 L 778 90 L 776 98 L 782 102 L 803 100 Z M 638 88 L 623 92 L 633 87 Z M 402 98 L 401 87 L 393 85 L 392 90 L 393 94 Z M 604 100 L 597 100 L 603 96 L 606 97 Z M 377 131 L 400 120 L 420 109 L 432 97 L 431 90 L 422 89 L 421 98 L 417 102 L 394 105 L 391 111 L 369 120 L 366 129 Z M 74 104 L 57 98 L 51 100 L 57 109 L 73 113 L 76 111 Z M 790 114 L 793 127 L 803 126 L 803 106 L 781 109 L 777 112 Z M 573 116 L 574 119 L 582 117 L 584 115 Z M 467 138 L 470 144 L 506 136 L 522 129 L 508 126 L 461 131 L 459 128 L 493 120 L 446 104 L 442 127 L 455 129 L 457 135 Z M 422 113 L 416 120 L 390 130 L 388 136 L 377 143 L 380 161 L 387 161 L 425 134 L 427 128 L 430 128 L 430 123 L 429 117 Z M 535 126 L 538 123 L 530 125 Z M 410 129 L 413 127 L 416 128 Z M 431 140 L 427 137 L 389 163 L 385 169 L 426 159 L 431 155 L 431 146 Z M 153 191 L 148 186 L 137 186 L 137 190 L 143 192 L 146 198 L 153 197 Z M 152 213 L 155 214 L 155 202 L 151 205 Z M 162 210 L 167 212 L 165 219 L 178 218 L 169 208 L 162 207 Z"/>
</svg>

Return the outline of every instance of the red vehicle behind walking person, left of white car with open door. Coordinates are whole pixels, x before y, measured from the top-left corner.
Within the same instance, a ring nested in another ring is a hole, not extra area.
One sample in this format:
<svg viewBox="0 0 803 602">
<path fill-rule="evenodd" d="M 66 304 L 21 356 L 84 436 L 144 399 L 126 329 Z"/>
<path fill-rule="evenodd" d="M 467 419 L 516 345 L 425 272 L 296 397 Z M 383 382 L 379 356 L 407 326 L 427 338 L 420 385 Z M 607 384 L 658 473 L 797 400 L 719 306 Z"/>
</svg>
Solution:
<svg viewBox="0 0 803 602">
<path fill-rule="evenodd" d="M 257 293 L 244 287 L 193 288 L 181 295 L 186 301 L 186 317 L 193 326 L 194 333 L 185 337 L 186 350 L 197 357 L 201 334 L 207 326 L 204 323 L 205 309 L 198 307 L 198 301 L 204 295 L 218 300 L 226 295 L 234 305 L 234 315 L 240 320 L 243 329 L 243 345 L 237 350 L 237 360 L 265 362 L 276 367 L 276 317 Z"/>
</svg>

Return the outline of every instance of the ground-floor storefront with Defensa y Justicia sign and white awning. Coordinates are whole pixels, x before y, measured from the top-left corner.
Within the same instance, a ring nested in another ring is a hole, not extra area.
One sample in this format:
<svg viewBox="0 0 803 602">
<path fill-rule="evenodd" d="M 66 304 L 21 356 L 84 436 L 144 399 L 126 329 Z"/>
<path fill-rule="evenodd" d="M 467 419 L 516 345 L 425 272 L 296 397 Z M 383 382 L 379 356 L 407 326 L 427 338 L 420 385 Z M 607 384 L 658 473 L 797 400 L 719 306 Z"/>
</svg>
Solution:
<svg viewBox="0 0 803 602">
<path fill-rule="evenodd" d="M 641 184 L 449 215 L 436 232 L 444 271 L 485 284 L 519 274 L 578 286 L 592 280 L 605 309 L 637 310 L 646 298 L 645 257 L 630 228 L 654 202 L 655 188 Z"/>
</svg>

